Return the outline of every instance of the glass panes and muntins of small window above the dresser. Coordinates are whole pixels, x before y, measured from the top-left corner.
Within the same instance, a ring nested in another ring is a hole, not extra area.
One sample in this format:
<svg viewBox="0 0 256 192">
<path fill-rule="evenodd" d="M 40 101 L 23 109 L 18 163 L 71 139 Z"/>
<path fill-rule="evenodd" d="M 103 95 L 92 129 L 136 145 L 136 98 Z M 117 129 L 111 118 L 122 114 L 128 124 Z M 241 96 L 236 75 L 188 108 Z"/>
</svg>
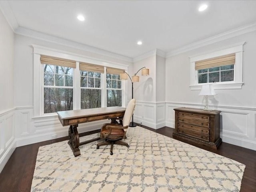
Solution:
<svg viewBox="0 0 256 192">
<path fill-rule="evenodd" d="M 198 84 L 212 82 L 233 82 L 234 64 L 197 70 Z"/>
</svg>

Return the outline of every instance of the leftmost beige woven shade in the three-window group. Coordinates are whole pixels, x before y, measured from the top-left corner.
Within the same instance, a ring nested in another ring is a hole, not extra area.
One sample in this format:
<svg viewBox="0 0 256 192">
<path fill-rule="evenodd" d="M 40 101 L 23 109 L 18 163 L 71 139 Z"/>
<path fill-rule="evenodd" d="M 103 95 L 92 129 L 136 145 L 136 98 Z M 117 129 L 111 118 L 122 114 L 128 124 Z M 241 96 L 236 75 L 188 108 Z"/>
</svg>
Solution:
<svg viewBox="0 0 256 192">
<path fill-rule="evenodd" d="M 41 61 L 41 64 L 51 64 L 51 65 L 76 68 L 76 61 L 72 61 L 68 59 L 41 55 L 40 61 Z"/>
</svg>

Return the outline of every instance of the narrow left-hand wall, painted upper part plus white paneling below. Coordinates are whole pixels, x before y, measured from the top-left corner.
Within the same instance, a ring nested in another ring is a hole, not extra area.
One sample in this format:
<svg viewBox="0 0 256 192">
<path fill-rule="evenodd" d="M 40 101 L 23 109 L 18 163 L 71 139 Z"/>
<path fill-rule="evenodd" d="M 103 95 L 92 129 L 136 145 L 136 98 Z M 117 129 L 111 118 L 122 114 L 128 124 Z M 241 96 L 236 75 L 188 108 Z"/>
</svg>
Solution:
<svg viewBox="0 0 256 192">
<path fill-rule="evenodd" d="M 14 33 L 0 11 L 0 172 L 16 147 L 13 56 Z"/>
</svg>

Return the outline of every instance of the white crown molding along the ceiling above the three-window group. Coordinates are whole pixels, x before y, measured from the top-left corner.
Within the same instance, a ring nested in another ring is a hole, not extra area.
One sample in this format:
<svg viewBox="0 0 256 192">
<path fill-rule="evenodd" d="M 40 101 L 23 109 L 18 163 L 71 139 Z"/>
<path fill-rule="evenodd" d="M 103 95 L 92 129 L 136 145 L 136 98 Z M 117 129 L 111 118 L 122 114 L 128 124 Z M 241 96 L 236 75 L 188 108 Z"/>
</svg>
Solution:
<svg viewBox="0 0 256 192">
<path fill-rule="evenodd" d="M 81 44 L 81 43 L 74 42 L 74 41 L 71 41 L 71 40 L 66 40 L 66 39 L 63 39 L 63 38 L 48 35 L 48 34 L 45 34 L 45 33 L 42 33 L 42 32 L 30 30 L 30 29 L 23 28 L 23 27 L 18 27 L 15 30 L 15 33 L 18 34 L 18 35 L 27 36 L 27 37 L 30 37 L 30 38 L 36 38 L 36 39 L 39 39 L 39 40 L 44 40 L 44 41 L 47 41 L 47 42 L 51 42 L 51 43 L 55 43 L 55 44 L 59 44 L 59 45 L 67 46 L 67 47 L 72 47 L 72 48 L 80 49 L 80 50 L 83 50 L 83 51 L 88 51 L 88 52 L 92 52 L 92 53 L 96 53 L 96 54 L 101 54 L 101 55 L 104 55 L 104 56 L 108 56 L 108 57 L 111 57 L 111 58 L 116 58 L 116 59 L 123 60 L 123 61 L 126 61 L 126 62 L 132 62 L 132 58 L 130 58 L 130 57 L 126 57 L 126 56 L 116 54 L 116 53 L 113 53 L 113 52 L 109 52 L 109 51 L 106 51 L 106 50 L 103 50 L 103 49 L 100 49 L 100 48 L 88 46 L 88 45 L 85 45 L 85 44 Z"/>
</svg>

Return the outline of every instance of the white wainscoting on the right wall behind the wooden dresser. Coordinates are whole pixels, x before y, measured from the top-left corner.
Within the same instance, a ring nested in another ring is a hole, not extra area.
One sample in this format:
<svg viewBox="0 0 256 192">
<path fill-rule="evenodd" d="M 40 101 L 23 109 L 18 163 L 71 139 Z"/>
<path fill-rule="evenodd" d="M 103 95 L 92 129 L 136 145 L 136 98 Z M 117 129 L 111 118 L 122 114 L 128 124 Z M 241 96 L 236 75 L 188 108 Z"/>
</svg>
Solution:
<svg viewBox="0 0 256 192">
<path fill-rule="evenodd" d="M 166 102 L 166 126 L 174 128 L 174 108 L 203 108 L 203 105 Z M 220 110 L 220 137 L 223 142 L 256 150 L 256 109 L 210 106 Z"/>
</svg>

